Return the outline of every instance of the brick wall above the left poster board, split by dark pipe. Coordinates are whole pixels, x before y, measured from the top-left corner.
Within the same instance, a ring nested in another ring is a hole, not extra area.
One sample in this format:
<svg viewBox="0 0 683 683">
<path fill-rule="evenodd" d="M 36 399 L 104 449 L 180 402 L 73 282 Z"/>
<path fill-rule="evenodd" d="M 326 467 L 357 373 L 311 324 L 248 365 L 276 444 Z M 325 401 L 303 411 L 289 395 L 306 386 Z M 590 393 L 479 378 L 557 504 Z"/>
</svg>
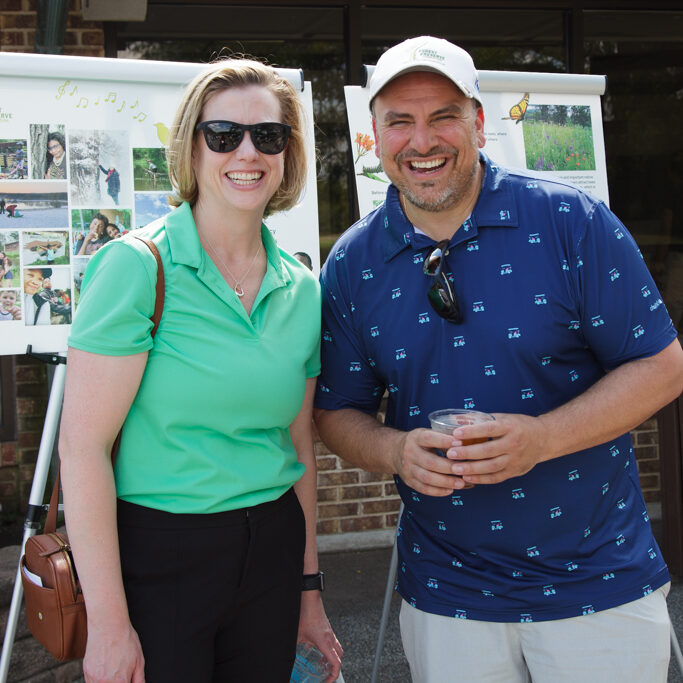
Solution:
<svg viewBox="0 0 683 683">
<path fill-rule="evenodd" d="M 36 0 L 0 0 L 0 51 L 34 52 L 36 5 Z M 83 21 L 81 0 L 70 0 L 63 54 L 104 57 L 102 23 Z"/>
</svg>

